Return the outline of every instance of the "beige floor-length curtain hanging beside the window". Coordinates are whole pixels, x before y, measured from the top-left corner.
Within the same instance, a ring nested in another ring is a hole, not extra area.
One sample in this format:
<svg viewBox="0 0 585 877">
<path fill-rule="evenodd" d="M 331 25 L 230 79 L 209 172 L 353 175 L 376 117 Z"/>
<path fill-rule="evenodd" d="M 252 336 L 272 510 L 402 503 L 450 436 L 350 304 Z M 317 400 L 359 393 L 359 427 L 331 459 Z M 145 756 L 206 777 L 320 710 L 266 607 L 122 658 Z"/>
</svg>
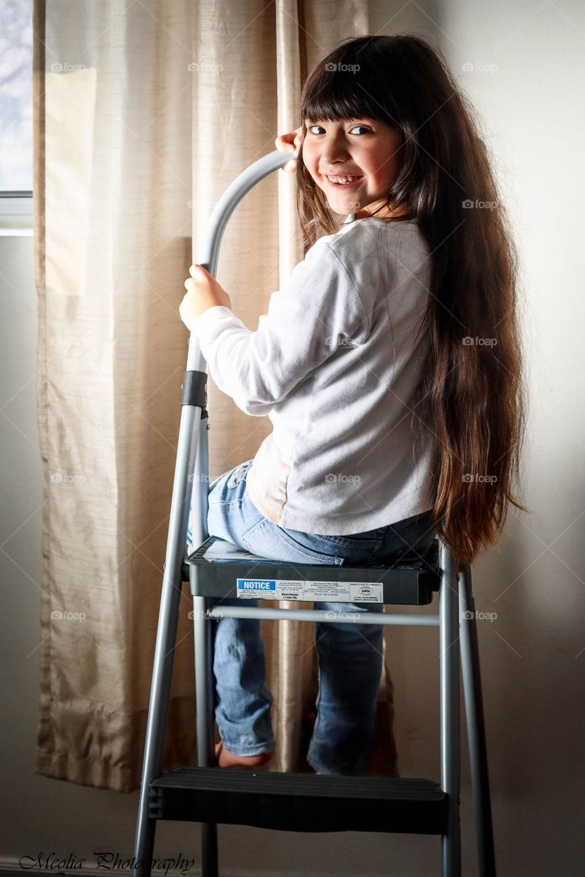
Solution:
<svg viewBox="0 0 585 877">
<path fill-rule="evenodd" d="M 366 0 L 35 0 L 35 274 L 45 472 L 36 772 L 139 788 L 188 332 L 184 279 L 218 198 L 298 124 L 307 69 Z M 302 258 L 292 177 L 258 184 L 218 280 L 255 328 Z M 193 246 L 193 242 L 194 245 Z M 270 431 L 208 381 L 210 474 Z M 310 608 L 311 604 L 302 604 Z M 196 763 L 184 586 L 164 766 Z M 278 757 L 309 770 L 314 626 L 263 621 Z M 392 688 L 367 772 L 393 775 Z"/>
</svg>

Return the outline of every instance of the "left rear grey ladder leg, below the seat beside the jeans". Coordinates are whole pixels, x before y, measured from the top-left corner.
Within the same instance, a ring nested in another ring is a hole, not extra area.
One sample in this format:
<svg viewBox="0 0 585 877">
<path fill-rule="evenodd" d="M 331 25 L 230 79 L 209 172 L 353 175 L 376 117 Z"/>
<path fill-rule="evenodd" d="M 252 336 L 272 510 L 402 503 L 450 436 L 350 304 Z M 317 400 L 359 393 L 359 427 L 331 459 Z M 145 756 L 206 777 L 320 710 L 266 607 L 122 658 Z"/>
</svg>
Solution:
<svg viewBox="0 0 585 877">
<path fill-rule="evenodd" d="M 213 630 L 217 624 L 206 618 L 207 597 L 193 597 L 193 632 L 195 639 L 195 698 L 197 703 L 197 763 L 211 767 L 215 761 L 213 744 Z M 201 823 L 201 874 L 217 877 L 217 824 Z"/>
</svg>

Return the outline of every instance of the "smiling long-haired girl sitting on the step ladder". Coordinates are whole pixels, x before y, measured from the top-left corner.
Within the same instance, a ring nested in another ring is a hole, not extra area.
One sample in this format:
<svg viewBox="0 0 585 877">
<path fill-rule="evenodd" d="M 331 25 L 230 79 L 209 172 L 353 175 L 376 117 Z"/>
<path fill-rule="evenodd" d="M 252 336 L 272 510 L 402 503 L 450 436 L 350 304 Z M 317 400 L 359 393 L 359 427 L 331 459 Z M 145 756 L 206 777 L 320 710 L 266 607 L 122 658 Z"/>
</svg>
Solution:
<svg viewBox="0 0 585 877">
<path fill-rule="evenodd" d="M 511 493 L 524 438 L 516 250 L 473 111 L 425 39 L 365 36 L 315 66 L 300 121 L 276 145 L 294 150 L 305 259 L 257 331 L 203 268 L 185 282 L 180 314 L 213 380 L 273 426 L 253 460 L 213 482 L 208 531 L 329 564 L 423 558 L 437 533 L 471 564 L 496 545 L 509 503 L 525 510 Z M 259 621 L 213 627 L 219 765 L 256 766 L 275 746 Z M 383 628 L 315 634 L 307 760 L 360 774 Z"/>
</svg>

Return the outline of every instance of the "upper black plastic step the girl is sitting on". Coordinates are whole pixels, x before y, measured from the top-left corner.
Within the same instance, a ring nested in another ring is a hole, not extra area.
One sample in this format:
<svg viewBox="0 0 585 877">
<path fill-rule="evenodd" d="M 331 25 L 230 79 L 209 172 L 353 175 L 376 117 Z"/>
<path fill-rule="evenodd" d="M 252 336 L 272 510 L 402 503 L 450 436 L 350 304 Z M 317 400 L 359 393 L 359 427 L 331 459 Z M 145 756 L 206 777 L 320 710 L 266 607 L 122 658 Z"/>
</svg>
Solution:
<svg viewBox="0 0 585 877">
<path fill-rule="evenodd" d="M 238 596 L 238 580 L 319 581 L 352 582 L 382 588 L 382 601 L 386 604 L 424 606 L 432 602 L 433 592 L 439 588 L 438 539 L 434 539 L 424 557 L 404 556 L 389 564 L 341 566 L 329 564 L 304 564 L 290 560 L 209 560 L 204 557 L 213 545 L 210 536 L 184 561 L 183 580 L 190 581 L 193 596 Z M 261 598 L 264 599 L 264 598 Z M 343 602 L 339 597 L 323 597 L 325 600 Z M 276 601 L 275 601 L 276 602 Z M 355 602 L 359 602 L 356 600 Z M 365 601 L 365 603 L 368 601 Z M 242 606 L 246 599 L 242 598 Z"/>
</svg>

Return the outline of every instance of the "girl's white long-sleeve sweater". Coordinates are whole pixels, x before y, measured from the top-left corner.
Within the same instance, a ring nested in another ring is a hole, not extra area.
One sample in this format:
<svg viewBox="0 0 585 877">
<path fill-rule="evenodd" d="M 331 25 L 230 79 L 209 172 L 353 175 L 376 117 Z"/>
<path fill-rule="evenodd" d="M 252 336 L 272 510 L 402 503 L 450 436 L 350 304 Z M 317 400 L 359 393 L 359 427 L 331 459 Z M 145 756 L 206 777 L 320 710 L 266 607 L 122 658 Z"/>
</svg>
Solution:
<svg viewBox="0 0 585 877">
<path fill-rule="evenodd" d="M 247 489 L 292 530 L 365 532 L 433 506 L 425 426 L 413 459 L 429 247 L 414 221 L 352 219 L 307 251 L 256 332 L 222 305 L 192 327 L 219 389 L 271 419 Z"/>
</svg>

